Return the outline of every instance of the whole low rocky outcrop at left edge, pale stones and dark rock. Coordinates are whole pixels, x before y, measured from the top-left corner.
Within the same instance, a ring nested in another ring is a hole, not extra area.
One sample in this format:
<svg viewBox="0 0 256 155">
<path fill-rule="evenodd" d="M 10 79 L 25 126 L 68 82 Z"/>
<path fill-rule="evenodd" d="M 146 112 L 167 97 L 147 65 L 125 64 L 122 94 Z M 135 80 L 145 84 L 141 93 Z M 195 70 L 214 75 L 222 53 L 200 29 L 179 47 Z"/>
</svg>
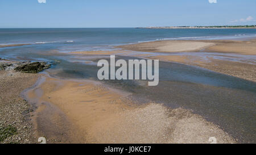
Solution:
<svg viewBox="0 0 256 155">
<path fill-rule="evenodd" d="M 0 61 L 0 69 L 3 70 L 15 70 L 16 72 L 22 73 L 38 73 L 43 71 L 44 69 L 48 69 L 51 67 L 51 64 L 47 64 L 47 62 L 13 62 L 13 61 Z"/>
</svg>

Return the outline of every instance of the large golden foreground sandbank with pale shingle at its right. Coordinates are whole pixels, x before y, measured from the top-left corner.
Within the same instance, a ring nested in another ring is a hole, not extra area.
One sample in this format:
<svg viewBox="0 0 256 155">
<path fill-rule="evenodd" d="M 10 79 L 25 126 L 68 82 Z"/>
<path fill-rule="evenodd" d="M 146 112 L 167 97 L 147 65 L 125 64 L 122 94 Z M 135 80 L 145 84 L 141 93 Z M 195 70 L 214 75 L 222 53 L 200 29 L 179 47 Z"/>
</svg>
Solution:
<svg viewBox="0 0 256 155">
<path fill-rule="evenodd" d="M 34 120 L 49 143 L 210 143 L 209 137 L 213 136 L 217 143 L 236 143 L 226 132 L 189 110 L 155 103 L 139 106 L 129 96 L 100 82 L 50 77 L 27 92 L 32 102 L 37 101 L 39 110 Z M 49 117 L 43 103 L 63 111 L 64 122 L 50 122 L 51 128 L 64 133 L 62 137 L 52 138 L 46 129 L 49 122 L 37 122 L 37 117 Z M 68 130 L 63 131 L 63 124 Z"/>
</svg>

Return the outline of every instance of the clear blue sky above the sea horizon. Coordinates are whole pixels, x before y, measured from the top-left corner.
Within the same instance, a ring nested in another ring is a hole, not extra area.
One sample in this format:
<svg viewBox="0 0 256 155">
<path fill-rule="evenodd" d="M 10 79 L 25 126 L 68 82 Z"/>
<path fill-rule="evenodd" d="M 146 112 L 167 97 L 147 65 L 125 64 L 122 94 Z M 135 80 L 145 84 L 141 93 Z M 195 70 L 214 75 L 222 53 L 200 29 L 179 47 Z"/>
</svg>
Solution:
<svg viewBox="0 0 256 155">
<path fill-rule="evenodd" d="M 245 25 L 256 24 L 255 8 L 255 0 L 1 0 L 0 27 Z"/>
</svg>

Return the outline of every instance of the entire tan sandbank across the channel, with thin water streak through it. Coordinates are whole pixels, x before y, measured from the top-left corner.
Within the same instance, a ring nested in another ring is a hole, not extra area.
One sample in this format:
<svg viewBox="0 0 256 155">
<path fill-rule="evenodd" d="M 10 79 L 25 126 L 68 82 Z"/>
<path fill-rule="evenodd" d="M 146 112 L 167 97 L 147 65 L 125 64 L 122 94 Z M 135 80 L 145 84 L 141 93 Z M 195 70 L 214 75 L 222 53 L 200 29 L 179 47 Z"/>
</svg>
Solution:
<svg viewBox="0 0 256 155">
<path fill-rule="evenodd" d="M 117 46 L 114 51 L 71 52 L 75 55 L 121 55 L 198 66 L 256 82 L 256 40 L 165 40 Z M 139 52 L 137 52 L 139 51 Z M 255 58 L 254 58 L 255 57 Z"/>
</svg>

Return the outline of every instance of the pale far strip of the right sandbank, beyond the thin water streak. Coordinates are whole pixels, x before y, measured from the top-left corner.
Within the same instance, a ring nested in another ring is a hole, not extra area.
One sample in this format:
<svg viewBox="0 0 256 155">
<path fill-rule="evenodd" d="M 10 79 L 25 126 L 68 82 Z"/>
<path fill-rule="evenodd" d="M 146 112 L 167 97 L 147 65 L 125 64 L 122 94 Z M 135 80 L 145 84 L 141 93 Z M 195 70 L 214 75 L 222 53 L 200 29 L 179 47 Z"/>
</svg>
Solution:
<svg viewBox="0 0 256 155">
<path fill-rule="evenodd" d="M 256 40 L 164 40 L 118 46 L 130 51 L 141 52 L 207 52 L 240 53 L 256 55 Z"/>
</svg>

